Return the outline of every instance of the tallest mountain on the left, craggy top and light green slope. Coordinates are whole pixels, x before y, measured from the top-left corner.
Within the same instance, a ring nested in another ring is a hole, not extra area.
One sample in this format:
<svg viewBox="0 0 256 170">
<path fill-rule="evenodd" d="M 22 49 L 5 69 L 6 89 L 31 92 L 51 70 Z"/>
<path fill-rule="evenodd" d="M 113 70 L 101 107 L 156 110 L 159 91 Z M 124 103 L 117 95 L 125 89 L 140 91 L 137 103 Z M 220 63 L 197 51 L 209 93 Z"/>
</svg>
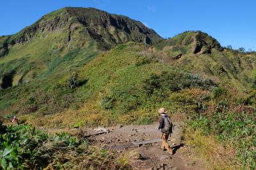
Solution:
<svg viewBox="0 0 256 170">
<path fill-rule="evenodd" d="M 162 38 L 141 22 L 94 8 L 63 8 L 11 36 L 0 37 L 0 83 L 8 88 L 68 72 L 124 42 Z"/>
</svg>

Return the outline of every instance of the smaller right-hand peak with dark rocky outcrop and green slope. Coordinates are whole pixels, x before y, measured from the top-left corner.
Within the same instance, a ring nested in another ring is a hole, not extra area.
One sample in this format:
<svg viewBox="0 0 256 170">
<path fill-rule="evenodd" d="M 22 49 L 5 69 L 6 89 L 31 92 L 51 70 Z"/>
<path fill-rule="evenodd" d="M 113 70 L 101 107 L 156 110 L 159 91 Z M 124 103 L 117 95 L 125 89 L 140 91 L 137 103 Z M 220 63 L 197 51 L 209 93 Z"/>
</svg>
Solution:
<svg viewBox="0 0 256 170">
<path fill-rule="evenodd" d="M 217 40 L 200 31 L 187 31 L 163 40 L 153 50 L 164 63 L 188 68 L 237 89 L 253 86 L 256 54 L 223 49 Z"/>
</svg>

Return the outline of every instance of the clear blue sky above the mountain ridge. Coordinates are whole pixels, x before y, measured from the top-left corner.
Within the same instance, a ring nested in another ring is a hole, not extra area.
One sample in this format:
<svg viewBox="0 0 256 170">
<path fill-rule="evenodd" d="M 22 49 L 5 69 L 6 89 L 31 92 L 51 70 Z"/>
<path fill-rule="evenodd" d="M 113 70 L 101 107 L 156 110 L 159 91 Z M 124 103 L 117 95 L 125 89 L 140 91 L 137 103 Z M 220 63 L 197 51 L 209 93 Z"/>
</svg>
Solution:
<svg viewBox="0 0 256 170">
<path fill-rule="evenodd" d="M 0 35 L 11 35 L 65 6 L 94 7 L 140 20 L 171 37 L 201 30 L 221 45 L 256 50 L 255 0 L 1 0 Z"/>
</svg>

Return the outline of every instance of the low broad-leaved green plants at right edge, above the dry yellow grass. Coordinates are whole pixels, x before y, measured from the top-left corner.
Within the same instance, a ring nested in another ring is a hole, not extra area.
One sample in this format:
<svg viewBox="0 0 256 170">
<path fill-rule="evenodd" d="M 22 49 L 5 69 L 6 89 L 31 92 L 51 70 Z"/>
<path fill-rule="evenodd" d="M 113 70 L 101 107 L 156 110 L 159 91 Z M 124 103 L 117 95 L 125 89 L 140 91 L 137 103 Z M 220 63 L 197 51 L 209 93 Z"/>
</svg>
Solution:
<svg viewBox="0 0 256 170">
<path fill-rule="evenodd" d="M 237 148 L 244 169 L 256 165 L 256 113 L 215 112 L 211 117 L 198 116 L 188 125 L 199 128 L 204 135 L 214 134 L 219 141 L 228 141 Z"/>
</svg>

